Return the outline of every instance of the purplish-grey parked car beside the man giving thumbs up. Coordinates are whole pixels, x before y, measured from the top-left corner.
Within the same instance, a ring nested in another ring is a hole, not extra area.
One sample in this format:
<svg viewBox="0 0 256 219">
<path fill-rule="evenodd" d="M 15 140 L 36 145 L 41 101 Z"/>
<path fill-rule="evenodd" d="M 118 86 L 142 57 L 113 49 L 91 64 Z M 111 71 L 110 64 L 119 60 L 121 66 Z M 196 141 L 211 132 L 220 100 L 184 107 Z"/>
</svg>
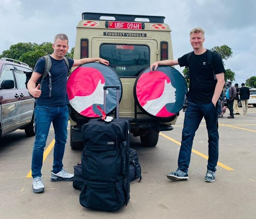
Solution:
<svg viewBox="0 0 256 219">
<path fill-rule="evenodd" d="M 26 88 L 26 74 L 33 69 L 15 59 L 0 59 L 0 145 L 1 138 L 17 129 L 34 136 L 35 98 Z"/>
</svg>

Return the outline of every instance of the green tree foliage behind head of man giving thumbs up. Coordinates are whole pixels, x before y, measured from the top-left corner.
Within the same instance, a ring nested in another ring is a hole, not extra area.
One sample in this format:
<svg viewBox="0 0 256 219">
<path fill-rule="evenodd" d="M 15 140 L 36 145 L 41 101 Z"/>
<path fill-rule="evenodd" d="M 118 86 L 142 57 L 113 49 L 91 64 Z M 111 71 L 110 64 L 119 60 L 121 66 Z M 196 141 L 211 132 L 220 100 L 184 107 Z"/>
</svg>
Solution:
<svg viewBox="0 0 256 219">
<path fill-rule="evenodd" d="M 36 61 L 42 57 L 53 53 L 52 43 L 44 42 L 37 43 L 17 43 L 11 45 L 8 50 L 4 50 L 0 55 L 0 58 L 6 57 L 16 59 L 21 62 L 27 63 L 31 68 L 34 68 Z M 73 59 L 74 48 L 71 49 L 67 56 Z"/>
</svg>

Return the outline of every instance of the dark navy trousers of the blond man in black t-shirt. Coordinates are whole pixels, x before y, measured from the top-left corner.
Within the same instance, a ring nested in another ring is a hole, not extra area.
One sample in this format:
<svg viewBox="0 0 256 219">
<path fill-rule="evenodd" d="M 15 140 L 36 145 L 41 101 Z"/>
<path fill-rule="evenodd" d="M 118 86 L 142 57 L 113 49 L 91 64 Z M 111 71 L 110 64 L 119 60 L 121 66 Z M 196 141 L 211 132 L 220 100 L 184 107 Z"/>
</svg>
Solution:
<svg viewBox="0 0 256 219">
<path fill-rule="evenodd" d="M 219 156 L 218 106 L 213 103 L 195 104 L 188 102 L 182 130 L 182 141 L 178 159 L 178 169 L 188 172 L 193 139 L 203 117 L 208 131 L 207 170 L 216 171 Z"/>
</svg>

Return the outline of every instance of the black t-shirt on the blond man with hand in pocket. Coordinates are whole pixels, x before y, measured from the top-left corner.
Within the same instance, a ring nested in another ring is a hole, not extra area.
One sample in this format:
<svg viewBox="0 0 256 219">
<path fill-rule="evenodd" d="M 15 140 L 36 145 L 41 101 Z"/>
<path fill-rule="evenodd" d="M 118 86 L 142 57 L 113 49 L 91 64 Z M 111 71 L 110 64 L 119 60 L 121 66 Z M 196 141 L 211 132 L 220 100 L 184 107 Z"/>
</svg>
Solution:
<svg viewBox="0 0 256 219">
<path fill-rule="evenodd" d="M 189 53 L 178 59 L 180 67 L 189 67 L 188 101 L 193 103 L 204 104 L 212 101 L 217 83 L 217 80 L 214 80 L 212 66 L 215 74 L 225 72 L 220 55 L 215 51 L 213 52 L 211 66 L 207 58 L 207 52 L 210 51 L 207 50 L 201 55 L 192 52 L 189 63 L 187 63 Z"/>
</svg>

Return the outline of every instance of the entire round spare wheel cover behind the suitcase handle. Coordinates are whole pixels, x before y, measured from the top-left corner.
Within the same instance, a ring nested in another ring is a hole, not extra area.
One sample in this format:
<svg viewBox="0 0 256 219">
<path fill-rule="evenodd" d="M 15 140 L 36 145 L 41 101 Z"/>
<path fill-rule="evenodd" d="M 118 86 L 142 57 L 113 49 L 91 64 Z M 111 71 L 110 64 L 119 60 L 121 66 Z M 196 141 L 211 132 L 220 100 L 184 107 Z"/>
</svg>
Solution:
<svg viewBox="0 0 256 219">
<path fill-rule="evenodd" d="M 120 87 L 119 99 L 122 96 L 122 84 L 116 72 L 103 64 L 92 62 L 77 67 L 68 78 L 67 93 L 69 103 L 79 114 L 97 118 L 101 116 L 97 106 L 103 109 L 105 85 Z M 107 90 L 106 113 L 116 107 L 116 90 Z"/>
</svg>

